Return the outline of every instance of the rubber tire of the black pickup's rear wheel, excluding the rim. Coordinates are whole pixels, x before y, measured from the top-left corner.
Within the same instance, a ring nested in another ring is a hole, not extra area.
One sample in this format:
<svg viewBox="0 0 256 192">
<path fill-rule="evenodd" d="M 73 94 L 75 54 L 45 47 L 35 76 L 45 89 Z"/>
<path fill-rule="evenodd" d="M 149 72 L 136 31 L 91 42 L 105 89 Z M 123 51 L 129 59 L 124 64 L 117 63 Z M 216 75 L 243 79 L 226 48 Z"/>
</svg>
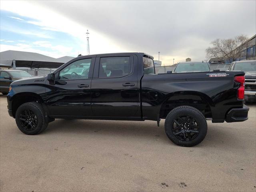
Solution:
<svg viewBox="0 0 256 192">
<path fill-rule="evenodd" d="M 196 121 L 198 122 L 200 129 L 199 129 L 199 134 L 194 138 L 193 140 L 190 141 L 183 141 L 178 139 L 172 132 L 172 124 L 174 119 L 177 116 L 182 116 L 182 115 L 190 115 L 193 116 Z M 198 110 L 194 110 L 193 108 L 179 108 L 179 109 L 174 109 L 173 111 L 170 112 L 170 115 L 167 116 L 165 120 L 165 132 L 168 138 L 174 142 L 177 145 L 180 146 L 195 146 L 202 142 L 204 140 L 206 133 L 207 133 L 207 122 L 202 114 Z"/>
</svg>

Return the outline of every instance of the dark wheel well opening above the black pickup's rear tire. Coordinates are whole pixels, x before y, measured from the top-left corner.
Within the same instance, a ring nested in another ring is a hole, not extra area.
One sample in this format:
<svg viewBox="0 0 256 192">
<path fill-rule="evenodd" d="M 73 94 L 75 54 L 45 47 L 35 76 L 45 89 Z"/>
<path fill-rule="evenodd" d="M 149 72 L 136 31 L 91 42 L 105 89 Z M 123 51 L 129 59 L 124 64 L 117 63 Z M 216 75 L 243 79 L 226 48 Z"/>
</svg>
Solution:
<svg viewBox="0 0 256 192">
<path fill-rule="evenodd" d="M 206 94 L 196 91 L 178 91 L 166 95 L 160 107 L 160 118 L 166 118 L 172 109 L 182 105 L 192 106 L 200 110 L 206 118 L 212 118 L 214 102 Z"/>
</svg>

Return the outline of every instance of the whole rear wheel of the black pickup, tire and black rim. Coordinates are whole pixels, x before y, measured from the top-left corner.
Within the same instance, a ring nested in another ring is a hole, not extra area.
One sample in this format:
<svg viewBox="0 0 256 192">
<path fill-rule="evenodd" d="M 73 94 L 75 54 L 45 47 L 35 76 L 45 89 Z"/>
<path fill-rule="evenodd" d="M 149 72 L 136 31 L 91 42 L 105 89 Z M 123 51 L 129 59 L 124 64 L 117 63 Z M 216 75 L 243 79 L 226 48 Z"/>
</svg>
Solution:
<svg viewBox="0 0 256 192">
<path fill-rule="evenodd" d="M 204 140 L 207 123 L 198 109 L 191 106 L 179 106 L 166 116 L 164 129 L 168 138 L 175 144 L 192 147 Z"/>
</svg>

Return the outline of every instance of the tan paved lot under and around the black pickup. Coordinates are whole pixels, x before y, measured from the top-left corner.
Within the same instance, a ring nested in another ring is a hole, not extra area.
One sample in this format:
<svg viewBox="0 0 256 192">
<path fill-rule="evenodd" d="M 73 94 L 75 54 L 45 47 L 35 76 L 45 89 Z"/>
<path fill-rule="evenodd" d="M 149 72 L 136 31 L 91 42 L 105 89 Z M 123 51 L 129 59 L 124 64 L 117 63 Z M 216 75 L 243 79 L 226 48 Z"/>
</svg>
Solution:
<svg viewBox="0 0 256 192">
<path fill-rule="evenodd" d="M 18 130 L 0 95 L 0 191 L 256 192 L 256 104 L 249 120 L 208 121 L 204 141 L 173 144 L 156 122 L 55 120 Z"/>
</svg>

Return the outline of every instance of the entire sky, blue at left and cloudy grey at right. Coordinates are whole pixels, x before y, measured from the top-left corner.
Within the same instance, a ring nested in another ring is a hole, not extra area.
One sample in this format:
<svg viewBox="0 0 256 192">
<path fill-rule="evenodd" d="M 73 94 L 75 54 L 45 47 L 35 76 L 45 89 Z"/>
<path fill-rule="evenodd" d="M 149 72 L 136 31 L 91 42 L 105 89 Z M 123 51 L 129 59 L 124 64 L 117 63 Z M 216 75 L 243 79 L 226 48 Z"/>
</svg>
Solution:
<svg viewBox="0 0 256 192">
<path fill-rule="evenodd" d="M 8 1 L 0 0 L 0 52 L 54 58 L 145 52 L 163 65 L 206 59 L 216 38 L 256 34 L 256 0 Z"/>
</svg>

